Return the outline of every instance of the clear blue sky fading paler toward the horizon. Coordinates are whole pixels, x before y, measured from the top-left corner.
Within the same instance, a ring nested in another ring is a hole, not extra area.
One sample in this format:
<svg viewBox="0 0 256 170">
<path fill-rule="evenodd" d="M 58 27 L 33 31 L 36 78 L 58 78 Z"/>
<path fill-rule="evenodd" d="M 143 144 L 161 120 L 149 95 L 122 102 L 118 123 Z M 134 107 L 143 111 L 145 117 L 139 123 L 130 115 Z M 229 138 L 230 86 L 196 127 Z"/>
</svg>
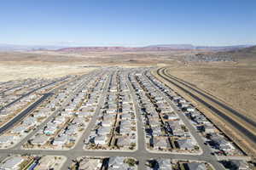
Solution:
<svg viewBox="0 0 256 170">
<path fill-rule="evenodd" d="M 3 0 L 0 43 L 256 44 L 256 1 Z"/>
</svg>

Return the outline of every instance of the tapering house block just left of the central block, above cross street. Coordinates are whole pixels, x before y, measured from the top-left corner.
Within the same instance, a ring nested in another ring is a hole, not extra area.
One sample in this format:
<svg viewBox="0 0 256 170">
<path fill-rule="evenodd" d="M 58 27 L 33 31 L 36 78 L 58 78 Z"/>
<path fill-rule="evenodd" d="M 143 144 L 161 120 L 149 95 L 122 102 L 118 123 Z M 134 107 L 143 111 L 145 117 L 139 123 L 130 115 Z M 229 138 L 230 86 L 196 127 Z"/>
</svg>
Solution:
<svg viewBox="0 0 256 170">
<path fill-rule="evenodd" d="M 58 111 L 43 129 L 28 139 L 24 148 L 56 150 L 72 148 L 86 129 L 96 111 L 96 106 L 99 105 L 98 96 L 102 93 L 106 75 L 97 76 L 85 80 L 87 86 L 79 89 L 79 93 L 65 104 L 64 109 Z"/>
</svg>

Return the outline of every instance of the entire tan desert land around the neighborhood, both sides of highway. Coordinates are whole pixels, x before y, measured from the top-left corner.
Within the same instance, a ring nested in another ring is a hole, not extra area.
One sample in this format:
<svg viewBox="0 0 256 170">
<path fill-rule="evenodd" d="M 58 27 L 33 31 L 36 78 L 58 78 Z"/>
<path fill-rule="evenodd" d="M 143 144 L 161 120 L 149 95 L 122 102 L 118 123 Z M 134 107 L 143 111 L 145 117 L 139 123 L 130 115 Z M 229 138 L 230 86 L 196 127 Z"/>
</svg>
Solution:
<svg viewBox="0 0 256 170">
<path fill-rule="evenodd" d="M 195 51 L 2 52 L 0 82 L 28 77 L 62 77 L 99 66 L 170 66 L 170 73 L 223 99 L 256 119 L 256 59 L 236 54 L 236 62 L 183 62 Z"/>
</svg>

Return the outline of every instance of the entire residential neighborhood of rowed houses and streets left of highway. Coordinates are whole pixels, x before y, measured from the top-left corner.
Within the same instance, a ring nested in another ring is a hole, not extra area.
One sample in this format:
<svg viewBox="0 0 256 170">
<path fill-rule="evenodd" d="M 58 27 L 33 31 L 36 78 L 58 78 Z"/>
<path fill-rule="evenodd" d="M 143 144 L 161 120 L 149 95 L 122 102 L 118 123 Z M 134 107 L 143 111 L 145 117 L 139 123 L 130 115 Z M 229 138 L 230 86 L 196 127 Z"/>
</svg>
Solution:
<svg viewBox="0 0 256 170">
<path fill-rule="evenodd" d="M 253 169 L 152 70 L 113 66 L 2 83 L 0 169 Z"/>
</svg>

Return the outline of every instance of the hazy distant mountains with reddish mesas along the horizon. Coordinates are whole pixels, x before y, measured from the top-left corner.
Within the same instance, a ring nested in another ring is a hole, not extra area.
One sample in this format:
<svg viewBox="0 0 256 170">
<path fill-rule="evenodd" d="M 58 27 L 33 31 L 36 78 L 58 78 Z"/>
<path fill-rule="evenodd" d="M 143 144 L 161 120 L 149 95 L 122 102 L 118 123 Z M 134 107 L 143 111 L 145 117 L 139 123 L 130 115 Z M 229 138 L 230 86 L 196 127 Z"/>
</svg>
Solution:
<svg viewBox="0 0 256 170">
<path fill-rule="evenodd" d="M 208 51 L 231 51 L 248 48 L 252 45 L 236 46 L 194 46 L 192 44 L 159 44 L 146 47 L 61 47 L 61 46 L 26 46 L 0 44 L 0 51 L 32 51 L 32 50 L 55 50 L 58 52 L 90 52 L 90 51 L 168 51 L 168 50 L 208 50 Z"/>
</svg>

